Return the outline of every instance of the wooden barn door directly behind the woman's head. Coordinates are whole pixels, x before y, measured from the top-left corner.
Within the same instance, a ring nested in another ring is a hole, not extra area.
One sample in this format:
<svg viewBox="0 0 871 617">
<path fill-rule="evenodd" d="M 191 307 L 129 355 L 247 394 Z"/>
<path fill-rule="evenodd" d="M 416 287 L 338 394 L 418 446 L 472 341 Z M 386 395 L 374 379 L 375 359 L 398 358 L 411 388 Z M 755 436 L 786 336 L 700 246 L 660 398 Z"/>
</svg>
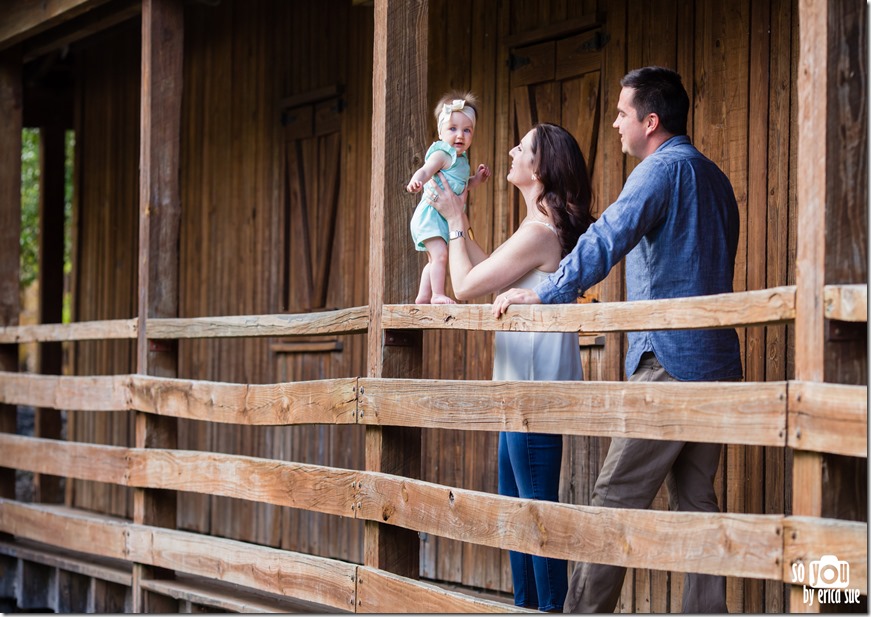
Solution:
<svg viewBox="0 0 871 617">
<path fill-rule="evenodd" d="M 599 135 L 601 30 L 510 51 L 511 130 L 514 143 L 537 122 L 565 127 L 581 146 L 590 175 Z M 525 216 L 520 192 L 512 191 L 512 229 Z"/>
</svg>

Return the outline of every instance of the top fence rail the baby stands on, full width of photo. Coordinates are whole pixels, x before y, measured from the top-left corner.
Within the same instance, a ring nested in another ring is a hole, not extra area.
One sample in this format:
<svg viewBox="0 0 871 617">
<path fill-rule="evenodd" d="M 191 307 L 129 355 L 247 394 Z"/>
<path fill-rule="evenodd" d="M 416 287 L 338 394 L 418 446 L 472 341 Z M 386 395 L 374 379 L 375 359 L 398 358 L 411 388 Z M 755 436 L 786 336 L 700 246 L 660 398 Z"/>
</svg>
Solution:
<svg viewBox="0 0 871 617">
<path fill-rule="evenodd" d="M 825 316 L 867 321 L 866 285 L 827 285 Z M 714 296 L 546 306 L 513 306 L 495 319 L 489 304 L 389 304 L 387 329 L 515 330 L 537 332 L 630 332 L 775 325 L 795 319 L 795 286 Z M 148 338 L 229 338 L 362 333 L 368 307 L 323 313 L 149 319 Z M 136 319 L 0 328 L 0 344 L 135 339 Z"/>
</svg>

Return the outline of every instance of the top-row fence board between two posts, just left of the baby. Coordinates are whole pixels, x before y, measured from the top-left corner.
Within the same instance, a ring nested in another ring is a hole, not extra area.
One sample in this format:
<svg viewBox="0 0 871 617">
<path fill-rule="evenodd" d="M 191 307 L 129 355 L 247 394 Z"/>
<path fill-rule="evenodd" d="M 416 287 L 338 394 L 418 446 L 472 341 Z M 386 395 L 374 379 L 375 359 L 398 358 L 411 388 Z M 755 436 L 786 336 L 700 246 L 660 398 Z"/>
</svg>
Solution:
<svg viewBox="0 0 871 617">
<path fill-rule="evenodd" d="M 146 330 L 148 338 L 182 339 L 348 334 L 368 326 L 368 308 L 358 306 L 296 315 L 150 319 Z"/>
</svg>

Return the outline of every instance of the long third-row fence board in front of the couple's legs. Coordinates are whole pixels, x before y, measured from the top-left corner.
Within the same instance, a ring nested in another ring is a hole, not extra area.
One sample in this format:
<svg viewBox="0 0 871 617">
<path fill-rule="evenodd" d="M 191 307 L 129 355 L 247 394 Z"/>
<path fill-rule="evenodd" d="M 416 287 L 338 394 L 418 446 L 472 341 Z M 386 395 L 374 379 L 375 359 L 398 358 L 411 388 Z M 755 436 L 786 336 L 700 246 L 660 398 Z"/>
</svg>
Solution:
<svg viewBox="0 0 871 617">
<path fill-rule="evenodd" d="M 781 576 L 782 516 L 614 510 L 513 499 L 367 473 L 358 516 L 559 559 Z"/>
</svg>

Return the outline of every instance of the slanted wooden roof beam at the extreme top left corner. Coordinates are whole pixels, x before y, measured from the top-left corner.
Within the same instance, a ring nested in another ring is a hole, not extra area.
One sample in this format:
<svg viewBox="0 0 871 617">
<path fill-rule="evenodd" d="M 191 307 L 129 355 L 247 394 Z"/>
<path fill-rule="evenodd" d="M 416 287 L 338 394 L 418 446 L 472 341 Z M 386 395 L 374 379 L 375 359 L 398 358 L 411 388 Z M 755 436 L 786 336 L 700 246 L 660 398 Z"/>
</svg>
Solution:
<svg viewBox="0 0 871 617">
<path fill-rule="evenodd" d="M 107 0 L 6 0 L 0 20 L 0 50 L 83 15 Z M 4 142 L 5 143 L 5 142 Z"/>
</svg>

